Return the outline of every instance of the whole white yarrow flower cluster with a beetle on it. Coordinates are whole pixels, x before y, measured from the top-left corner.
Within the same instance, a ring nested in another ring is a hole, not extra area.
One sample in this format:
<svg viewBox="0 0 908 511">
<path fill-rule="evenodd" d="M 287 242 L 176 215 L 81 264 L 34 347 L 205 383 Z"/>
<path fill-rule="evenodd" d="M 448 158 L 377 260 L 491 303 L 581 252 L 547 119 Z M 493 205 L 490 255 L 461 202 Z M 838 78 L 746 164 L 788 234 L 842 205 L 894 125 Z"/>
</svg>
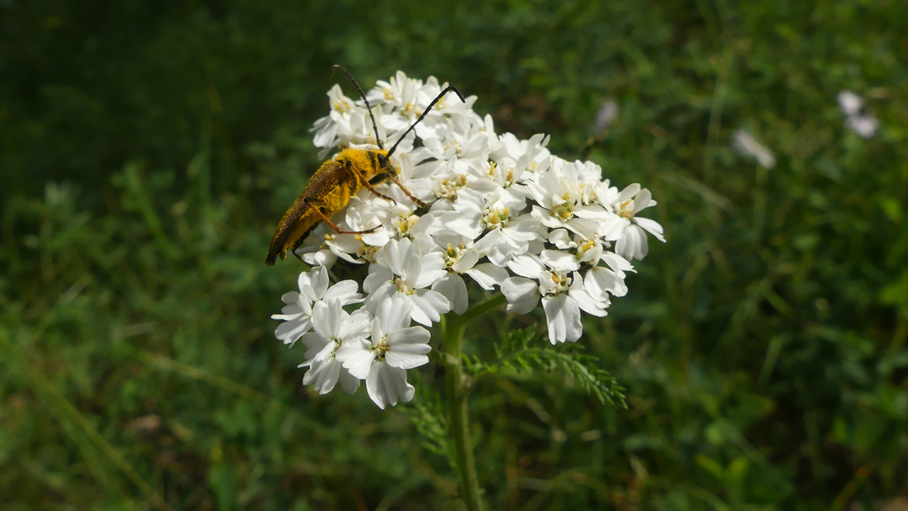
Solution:
<svg viewBox="0 0 908 511">
<path fill-rule="evenodd" d="M 396 142 L 446 86 L 400 71 L 378 82 L 367 97 L 379 135 Z M 364 102 L 339 85 L 328 96 L 331 114 L 312 128 L 321 157 L 376 148 Z M 325 394 L 340 382 L 352 394 L 365 380 L 381 408 L 410 401 L 407 369 L 429 362 L 427 327 L 468 309 L 470 283 L 498 288 L 508 312 L 541 303 L 549 341 L 577 341 L 581 313 L 606 316 L 611 298 L 627 294 L 647 233 L 665 241 L 662 226 L 640 215 L 656 205 L 646 188 L 618 189 L 599 165 L 552 155 L 548 136 L 496 134 L 491 116 L 472 110 L 476 99 L 444 96 L 392 156 L 401 184 L 427 208 L 397 185 L 377 186 L 393 203 L 363 189 L 333 220 L 371 232 L 322 224 L 297 250 L 313 268 L 272 318 L 283 321 L 275 336 L 284 344 L 307 348 L 304 385 Z M 361 293 L 353 280 L 329 286 L 338 265 L 368 267 Z"/>
</svg>

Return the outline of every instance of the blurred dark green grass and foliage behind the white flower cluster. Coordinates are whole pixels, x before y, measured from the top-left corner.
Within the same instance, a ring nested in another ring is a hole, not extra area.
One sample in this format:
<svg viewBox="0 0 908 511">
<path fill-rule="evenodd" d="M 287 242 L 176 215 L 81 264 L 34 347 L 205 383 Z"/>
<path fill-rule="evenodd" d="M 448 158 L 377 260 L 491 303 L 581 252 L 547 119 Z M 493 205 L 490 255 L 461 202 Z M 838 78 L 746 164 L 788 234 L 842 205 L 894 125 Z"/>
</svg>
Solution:
<svg viewBox="0 0 908 511">
<path fill-rule="evenodd" d="M 669 243 L 581 343 L 627 409 L 559 373 L 485 380 L 490 508 L 908 491 L 908 4 L 735 4 L 0 2 L 0 507 L 459 506 L 406 413 L 429 403 L 313 396 L 271 335 L 302 265 L 263 259 L 320 163 L 332 64 L 437 75 L 568 158 L 615 98 L 590 157 L 659 201 Z M 739 127 L 774 169 L 730 149 Z"/>
</svg>

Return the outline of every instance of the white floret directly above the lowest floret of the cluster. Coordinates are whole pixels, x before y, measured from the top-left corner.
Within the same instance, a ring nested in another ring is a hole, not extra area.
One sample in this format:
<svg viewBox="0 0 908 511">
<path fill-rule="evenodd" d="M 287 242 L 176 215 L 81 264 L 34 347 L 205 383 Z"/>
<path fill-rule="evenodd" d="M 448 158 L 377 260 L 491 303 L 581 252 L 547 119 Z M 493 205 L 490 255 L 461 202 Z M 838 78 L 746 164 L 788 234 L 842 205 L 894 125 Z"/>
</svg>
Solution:
<svg viewBox="0 0 908 511">
<path fill-rule="evenodd" d="M 451 306 L 448 298 L 427 289 L 447 276 L 444 260 L 438 252 L 422 254 L 419 242 L 409 238 L 390 240 L 375 253 L 375 263 L 369 266 L 370 275 L 363 282 L 369 293 L 365 307 L 375 312 L 392 296 L 400 296 L 413 305 L 413 321 L 425 326 L 438 323 Z"/>
</svg>

